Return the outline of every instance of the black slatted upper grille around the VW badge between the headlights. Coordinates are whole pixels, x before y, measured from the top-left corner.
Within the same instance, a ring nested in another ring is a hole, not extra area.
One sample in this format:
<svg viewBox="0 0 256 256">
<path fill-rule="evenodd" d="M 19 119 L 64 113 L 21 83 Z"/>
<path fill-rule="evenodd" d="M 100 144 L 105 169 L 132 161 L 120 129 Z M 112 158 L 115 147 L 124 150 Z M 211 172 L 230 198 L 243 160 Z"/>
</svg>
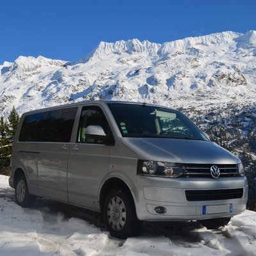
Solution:
<svg viewBox="0 0 256 256">
<path fill-rule="evenodd" d="M 185 177 L 211 177 L 212 165 L 218 166 L 220 177 L 240 176 L 237 164 L 183 164 L 183 173 Z"/>
</svg>

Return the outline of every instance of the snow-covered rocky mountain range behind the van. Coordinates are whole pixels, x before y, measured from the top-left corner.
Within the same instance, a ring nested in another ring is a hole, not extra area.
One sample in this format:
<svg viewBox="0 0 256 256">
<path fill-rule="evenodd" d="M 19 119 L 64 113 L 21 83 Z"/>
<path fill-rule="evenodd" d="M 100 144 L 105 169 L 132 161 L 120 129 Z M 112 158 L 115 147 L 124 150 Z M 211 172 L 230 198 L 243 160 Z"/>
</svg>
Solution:
<svg viewBox="0 0 256 256">
<path fill-rule="evenodd" d="M 100 42 L 74 63 L 20 56 L 0 65 L 0 111 L 114 99 L 171 107 L 255 105 L 256 31 L 231 31 L 164 44 Z"/>
</svg>

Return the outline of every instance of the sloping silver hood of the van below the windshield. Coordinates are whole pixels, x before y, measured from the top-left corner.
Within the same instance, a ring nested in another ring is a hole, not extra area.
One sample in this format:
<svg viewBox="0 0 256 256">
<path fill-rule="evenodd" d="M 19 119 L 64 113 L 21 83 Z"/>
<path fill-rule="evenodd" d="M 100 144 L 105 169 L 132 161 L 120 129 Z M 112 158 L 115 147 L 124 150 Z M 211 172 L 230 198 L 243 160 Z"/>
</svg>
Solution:
<svg viewBox="0 0 256 256">
<path fill-rule="evenodd" d="M 239 159 L 212 141 L 168 138 L 122 138 L 138 159 L 171 163 L 237 164 Z"/>
</svg>

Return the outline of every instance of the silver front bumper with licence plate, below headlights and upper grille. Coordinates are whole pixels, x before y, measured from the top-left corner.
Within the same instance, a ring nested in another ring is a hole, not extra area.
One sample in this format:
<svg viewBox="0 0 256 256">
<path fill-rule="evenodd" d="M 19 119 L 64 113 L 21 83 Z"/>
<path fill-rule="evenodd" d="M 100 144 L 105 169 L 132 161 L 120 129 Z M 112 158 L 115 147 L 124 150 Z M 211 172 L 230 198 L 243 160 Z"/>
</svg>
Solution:
<svg viewBox="0 0 256 256">
<path fill-rule="evenodd" d="M 140 188 L 140 189 L 139 189 Z M 186 190 L 243 188 L 237 199 L 188 201 Z M 225 179 L 168 179 L 137 176 L 134 193 L 139 220 L 188 221 L 232 217 L 246 209 L 248 184 L 245 177 Z M 164 207 L 163 214 L 154 209 Z"/>
</svg>

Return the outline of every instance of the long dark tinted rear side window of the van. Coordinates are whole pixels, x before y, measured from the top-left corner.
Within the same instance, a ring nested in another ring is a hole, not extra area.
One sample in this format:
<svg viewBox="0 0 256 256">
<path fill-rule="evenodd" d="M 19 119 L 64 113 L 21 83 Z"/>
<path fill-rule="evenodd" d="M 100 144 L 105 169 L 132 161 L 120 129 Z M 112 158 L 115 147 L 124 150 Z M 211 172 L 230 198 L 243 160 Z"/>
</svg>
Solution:
<svg viewBox="0 0 256 256">
<path fill-rule="evenodd" d="M 77 107 L 25 116 L 19 141 L 69 142 Z"/>
</svg>

